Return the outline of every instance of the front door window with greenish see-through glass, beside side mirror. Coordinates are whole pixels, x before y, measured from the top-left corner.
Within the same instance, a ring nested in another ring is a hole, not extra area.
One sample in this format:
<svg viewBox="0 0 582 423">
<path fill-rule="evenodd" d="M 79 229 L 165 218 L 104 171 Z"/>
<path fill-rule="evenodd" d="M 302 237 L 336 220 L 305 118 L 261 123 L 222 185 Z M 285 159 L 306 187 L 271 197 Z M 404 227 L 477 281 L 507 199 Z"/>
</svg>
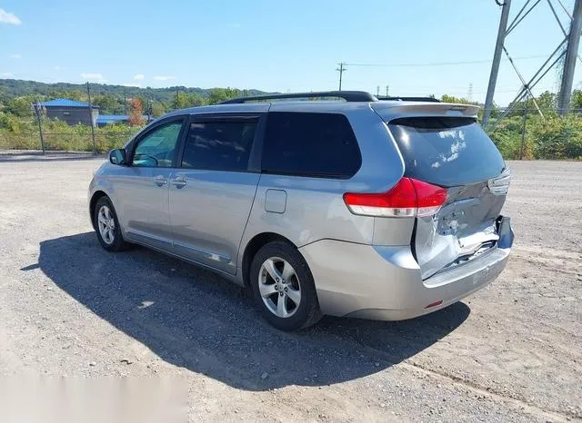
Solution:
<svg viewBox="0 0 582 423">
<path fill-rule="evenodd" d="M 148 133 L 135 147 L 132 165 L 172 167 L 182 122 L 168 123 Z"/>
</svg>

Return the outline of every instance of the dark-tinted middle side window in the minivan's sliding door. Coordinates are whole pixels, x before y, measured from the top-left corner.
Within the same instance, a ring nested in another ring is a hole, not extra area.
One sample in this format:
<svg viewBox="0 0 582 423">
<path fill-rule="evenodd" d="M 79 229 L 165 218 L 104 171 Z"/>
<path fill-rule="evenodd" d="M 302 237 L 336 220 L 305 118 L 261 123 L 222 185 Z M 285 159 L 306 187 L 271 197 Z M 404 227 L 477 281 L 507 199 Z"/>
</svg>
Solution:
<svg viewBox="0 0 582 423">
<path fill-rule="evenodd" d="M 256 123 L 255 120 L 190 123 L 182 167 L 246 172 Z"/>
</svg>

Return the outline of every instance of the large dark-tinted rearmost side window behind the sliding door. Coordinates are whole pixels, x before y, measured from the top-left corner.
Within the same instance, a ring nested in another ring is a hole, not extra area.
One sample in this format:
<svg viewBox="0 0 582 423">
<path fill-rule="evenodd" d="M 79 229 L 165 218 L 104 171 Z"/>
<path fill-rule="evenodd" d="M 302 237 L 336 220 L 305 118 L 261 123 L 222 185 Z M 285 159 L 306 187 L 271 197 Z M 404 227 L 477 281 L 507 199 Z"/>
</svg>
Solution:
<svg viewBox="0 0 582 423">
<path fill-rule="evenodd" d="M 338 113 L 268 113 L 263 172 L 347 179 L 362 159 L 356 135 Z"/>
</svg>

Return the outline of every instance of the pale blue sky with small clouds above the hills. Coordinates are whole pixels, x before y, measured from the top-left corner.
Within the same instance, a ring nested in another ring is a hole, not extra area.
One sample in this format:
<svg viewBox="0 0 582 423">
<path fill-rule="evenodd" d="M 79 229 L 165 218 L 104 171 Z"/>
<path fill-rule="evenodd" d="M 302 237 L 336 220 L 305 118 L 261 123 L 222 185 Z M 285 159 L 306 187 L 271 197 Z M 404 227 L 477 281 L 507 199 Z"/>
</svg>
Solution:
<svg viewBox="0 0 582 423">
<path fill-rule="evenodd" d="M 561 1 L 572 10 L 574 0 Z M 525 2 L 513 0 L 510 22 Z M 0 0 L 0 78 L 286 93 L 336 90 L 343 62 L 345 90 L 483 102 L 500 9 L 495 0 Z M 529 79 L 562 39 L 543 1 L 506 45 Z M 550 71 L 534 93 L 556 92 L 558 79 Z M 496 103 L 520 85 L 504 58 Z"/>
</svg>

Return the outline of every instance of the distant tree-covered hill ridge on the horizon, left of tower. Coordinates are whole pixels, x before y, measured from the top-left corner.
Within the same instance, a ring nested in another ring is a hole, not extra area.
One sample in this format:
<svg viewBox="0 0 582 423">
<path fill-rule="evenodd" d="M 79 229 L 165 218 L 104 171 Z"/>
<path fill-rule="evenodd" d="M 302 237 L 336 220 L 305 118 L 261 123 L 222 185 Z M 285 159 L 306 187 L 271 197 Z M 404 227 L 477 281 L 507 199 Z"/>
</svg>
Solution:
<svg viewBox="0 0 582 423">
<path fill-rule="evenodd" d="M 139 88 L 135 86 L 90 84 L 91 95 L 113 95 L 123 98 L 142 96 L 154 102 L 169 103 L 176 91 L 180 93 L 196 93 L 207 97 L 211 88 L 198 88 L 186 86 L 171 86 L 167 88 Z M 0 79 L 0 103 L 7 103 L 14 97 L 23 95 L 45 95 L 56 97 L 62 93 L 86 92 L 85 84 L 55 83 L 45 84 L 36 81 L 24 81 L 19 79 Z M 266 93 L 259 90 L 247 90 L 247 95 L 260 95 Z"/>
</svg>

